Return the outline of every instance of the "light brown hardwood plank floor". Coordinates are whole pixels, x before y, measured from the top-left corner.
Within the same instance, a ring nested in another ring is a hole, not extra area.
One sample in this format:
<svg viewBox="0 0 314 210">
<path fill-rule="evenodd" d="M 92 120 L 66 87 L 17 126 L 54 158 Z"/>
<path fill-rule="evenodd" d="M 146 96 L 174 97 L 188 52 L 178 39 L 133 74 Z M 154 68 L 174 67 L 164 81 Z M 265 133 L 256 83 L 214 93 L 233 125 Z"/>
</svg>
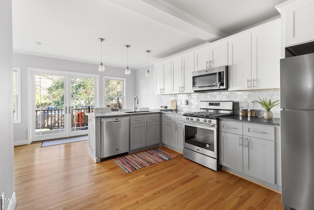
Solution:
<svg viewBox="0 0 314 210">
<path fill-rule="evenodd" d="M 279 193 L 167 148 L 177 157 L 126 174 L 112 159 L 95 164 L 87 141 L 40 146 L 15 147 L 16 210 L 284 209 Z"/>
</svg>

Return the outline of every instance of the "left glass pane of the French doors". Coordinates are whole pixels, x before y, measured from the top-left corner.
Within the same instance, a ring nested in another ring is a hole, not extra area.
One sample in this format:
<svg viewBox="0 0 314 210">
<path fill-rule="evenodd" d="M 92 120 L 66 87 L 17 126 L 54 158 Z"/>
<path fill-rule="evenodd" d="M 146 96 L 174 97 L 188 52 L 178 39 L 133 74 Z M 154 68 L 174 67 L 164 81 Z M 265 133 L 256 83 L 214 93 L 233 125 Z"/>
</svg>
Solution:
<svg viewBox="0 0 314 210">
<path fill-rule="evenodd" d="M 35 75 L 35 136 L 64 133 L 64 77 Z"/>
</svg>

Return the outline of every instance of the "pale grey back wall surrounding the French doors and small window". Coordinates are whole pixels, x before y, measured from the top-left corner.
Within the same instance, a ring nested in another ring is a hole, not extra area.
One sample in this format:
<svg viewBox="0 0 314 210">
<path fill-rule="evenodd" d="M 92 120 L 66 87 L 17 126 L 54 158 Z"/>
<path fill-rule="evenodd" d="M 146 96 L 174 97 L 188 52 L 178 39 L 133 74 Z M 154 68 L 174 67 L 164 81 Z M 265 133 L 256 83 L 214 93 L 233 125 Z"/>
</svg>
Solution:
<svg viewBox="0 0 314 210">
<path fill-rule="evenodd" d="M 43 69 L 52 69 L 52 70 L 60 70 L 60 71 L 73 71 L 73 72 L 81 72 L 81 73 L 90 73 L 90 74 L 98 74 L 100 75 L 100 107 L 104 106 L 104 91 L 103 91 L 103 76 L 110 77 L 122 77 L 127 79 L 127 107 L 128 109 L 132 108 L 133 98 L 135 96 L 135 70 L 131 70 L 130 75 L 126 75 L 124 73 L 124 68 L 105 66 L 105 72 L 98 71 L 97 64 L 77 62 L 71 60 L 61 60 L 61 59 L 52 59 L 46 57 L 39 56 L 31 56 L 26 54 L 13 54 L 13 66 L 21 67 L 21 94 L 22 94 L 22 123 L 14 124 L 15 132 L 14 141 L 15 144 L 27 141 L 27 67 L 34 68 L 43 68 Z"/>
</svg>

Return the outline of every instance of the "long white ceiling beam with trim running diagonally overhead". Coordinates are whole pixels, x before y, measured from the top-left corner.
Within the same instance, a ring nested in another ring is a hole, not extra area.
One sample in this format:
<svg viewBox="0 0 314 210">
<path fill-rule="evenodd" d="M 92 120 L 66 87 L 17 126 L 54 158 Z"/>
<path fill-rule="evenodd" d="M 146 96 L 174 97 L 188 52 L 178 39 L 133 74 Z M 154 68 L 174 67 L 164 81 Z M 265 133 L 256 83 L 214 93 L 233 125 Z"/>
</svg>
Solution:
<svg viewBox="0 0 314 210">
<path fill-rule="evenodd" d="M 165 0 L 109 1 L 204 41 L 212 42 L 227 36 Z"/>
</svg>

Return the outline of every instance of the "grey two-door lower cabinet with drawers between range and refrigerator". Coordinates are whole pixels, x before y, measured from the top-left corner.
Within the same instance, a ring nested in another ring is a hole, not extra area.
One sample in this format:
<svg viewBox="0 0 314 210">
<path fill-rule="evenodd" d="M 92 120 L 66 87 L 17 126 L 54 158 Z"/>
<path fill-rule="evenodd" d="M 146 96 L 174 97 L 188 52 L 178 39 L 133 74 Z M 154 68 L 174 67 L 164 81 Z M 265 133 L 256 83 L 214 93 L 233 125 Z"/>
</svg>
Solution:
<svg viewBox="0 0 314 210">
<path fill-rule="evenodd" d="M 221 165 L 275 184 L 274 127 L 221 120 L 219 130 Z"/>
</svg>

